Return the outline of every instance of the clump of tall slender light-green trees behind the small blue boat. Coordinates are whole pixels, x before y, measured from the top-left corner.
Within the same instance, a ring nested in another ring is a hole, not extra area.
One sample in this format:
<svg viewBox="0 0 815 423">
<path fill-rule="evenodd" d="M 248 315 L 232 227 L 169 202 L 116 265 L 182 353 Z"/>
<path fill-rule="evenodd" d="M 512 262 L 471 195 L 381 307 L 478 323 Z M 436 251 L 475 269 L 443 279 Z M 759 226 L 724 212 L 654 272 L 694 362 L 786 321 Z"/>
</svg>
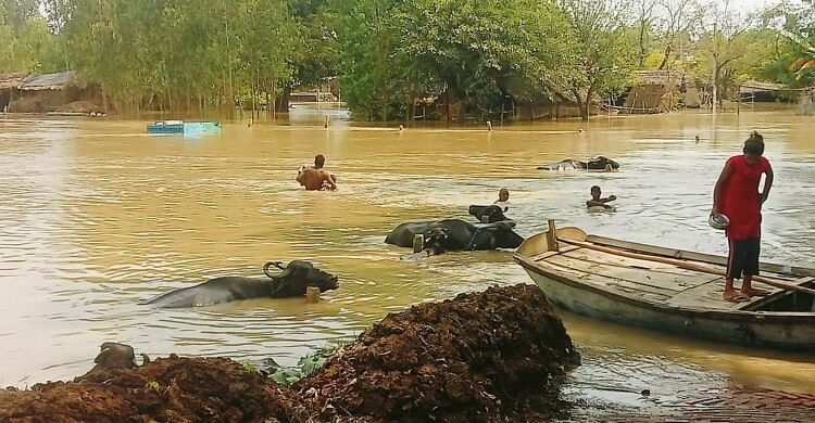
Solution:
<svg viewBox="0 0 815 423">
<path fill-rule="evenodd" d="M 114 110 L 252 108 L 291 78 L 299 27 L 286 0 L 50 0 L 68 63 Z"/>
</svg>

